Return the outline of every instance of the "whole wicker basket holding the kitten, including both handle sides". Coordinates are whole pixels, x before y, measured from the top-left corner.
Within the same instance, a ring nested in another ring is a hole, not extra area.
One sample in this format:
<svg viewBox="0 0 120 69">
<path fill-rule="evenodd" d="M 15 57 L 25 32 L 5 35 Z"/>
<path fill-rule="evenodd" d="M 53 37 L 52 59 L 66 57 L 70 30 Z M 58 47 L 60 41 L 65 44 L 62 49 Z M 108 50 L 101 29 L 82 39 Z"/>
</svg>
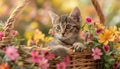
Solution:
<svg viewBox="0 0 120 69">
<path fill-rule="evenodd" d="M 16 15 L 20 12 L 20 10 L 25 6 L 26 2 L 29 0 L 25 0 L 21 5 L 19 5 L 15 11 L 11 14 L 10 18 L 7 21 L 7 26 L 5 27 L 5 35 L 2 38 L 2 41 L 0 41 L 0 47 L 8 46 L 11 43 L 11 38 L 9 36 L 10 29 L 13 28 L 13 24 L 15 22 Z M 93 5 L 96 5 L 97 1 L 92 0 Z M 96 10 L 100 10 L 99 7 L 96 7 Z M 101 11 L 100 11 L 101 12 Z M 99 17 L 102 17 L 103 15 L 99 14 Z M 104 16 L 103 16 L 104 17 Z M 102 23 L 104 23 L 104 18 L 100 19 Z M 12 19 L 12 21 L 11 21 Z M 93 60 L 93 57 L 91 56 L 92 52 L 89 49 L 84 50 L 83 52 L 69 52 L 69 56 L 71 59 L 70 65 L 67 69 L 99 69 L 100 68 L 100 62 Z M 50 62 L 50 68 L 49 69 L 56 69 L 56 63 L 59 63 L 56 60 L 53 60 Z"/>
</svg>

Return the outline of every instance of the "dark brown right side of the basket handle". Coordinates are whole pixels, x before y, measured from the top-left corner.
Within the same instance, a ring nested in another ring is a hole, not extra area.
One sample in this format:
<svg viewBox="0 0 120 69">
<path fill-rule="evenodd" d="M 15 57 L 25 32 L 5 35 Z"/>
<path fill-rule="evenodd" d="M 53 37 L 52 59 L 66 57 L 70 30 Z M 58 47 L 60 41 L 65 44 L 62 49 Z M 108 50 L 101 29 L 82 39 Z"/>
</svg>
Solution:
<svg viewBox="0 0 120 69">
<path fill-rule="evenodd" d="M 98 1 L 97 0 L 91 0 L 91 1 L 92 1 L 92 4 L 93 4 L 96 12 L 97 12 L 97 15 L 99 16 L 100 23 L 102 23 L 103 25 L 105 25 L 105 22 L 106 22 L 105 16 L 104 16 L 104 14 L 103 14 L 103 12 L 101 10 L 101 7 L 100 7 Z"/>
</svg>

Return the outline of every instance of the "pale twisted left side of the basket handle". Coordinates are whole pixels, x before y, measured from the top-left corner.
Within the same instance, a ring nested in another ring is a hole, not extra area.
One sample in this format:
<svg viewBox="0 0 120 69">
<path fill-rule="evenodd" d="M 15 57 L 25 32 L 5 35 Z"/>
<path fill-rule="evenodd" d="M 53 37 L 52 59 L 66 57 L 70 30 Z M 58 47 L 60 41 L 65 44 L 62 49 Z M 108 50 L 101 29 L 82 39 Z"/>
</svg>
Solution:
<svg viewBox="0 0 120 69">
<path fill-rule="evenodd" d="M 22 3 L 20 3 L 16 9 L 11 13 L 10 17 L 8 18 L 6 25 L 4 27 L 5 37 L 9 35 L 10 30 L 14 28 L 14 23 L 17 15 L 21 12 L 21 10 L 24 8 L 26 4 L 29 3 L 29 0 L 24 0 Z"/>
</svg>

